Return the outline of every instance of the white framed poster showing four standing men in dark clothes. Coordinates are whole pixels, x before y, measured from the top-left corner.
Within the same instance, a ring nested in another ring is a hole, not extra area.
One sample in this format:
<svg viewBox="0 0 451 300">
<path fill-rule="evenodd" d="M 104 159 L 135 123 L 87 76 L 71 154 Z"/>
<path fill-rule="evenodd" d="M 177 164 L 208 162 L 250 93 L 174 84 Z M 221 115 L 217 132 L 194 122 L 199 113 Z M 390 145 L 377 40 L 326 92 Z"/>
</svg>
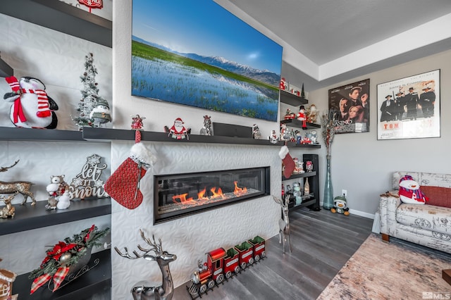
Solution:
<svg viewBox="0 0 451 300">
<path fill-rule="evenodd" d="M 440 70 L 377 85 L 378 139 L 440 137 Z"/>
</svg>

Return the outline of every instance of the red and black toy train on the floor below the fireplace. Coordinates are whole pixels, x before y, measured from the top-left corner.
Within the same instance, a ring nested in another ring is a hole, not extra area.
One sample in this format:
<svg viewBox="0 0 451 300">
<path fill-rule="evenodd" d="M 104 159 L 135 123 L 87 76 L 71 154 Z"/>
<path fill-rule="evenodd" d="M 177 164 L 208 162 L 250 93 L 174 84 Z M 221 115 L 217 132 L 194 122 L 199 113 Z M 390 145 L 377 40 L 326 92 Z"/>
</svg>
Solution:
<svg viewBox="0 0 451 300">
<path fill-rule="evenodd" d="M 258 235 L 227 251 L 223 248 L 212 250 L 206 254 L 206 263 L 198 261 L 199 269 L 191 275 L 191 285 L 187 290 L 195 299 L 265 256 L 265 240 Z"/>
</svg>

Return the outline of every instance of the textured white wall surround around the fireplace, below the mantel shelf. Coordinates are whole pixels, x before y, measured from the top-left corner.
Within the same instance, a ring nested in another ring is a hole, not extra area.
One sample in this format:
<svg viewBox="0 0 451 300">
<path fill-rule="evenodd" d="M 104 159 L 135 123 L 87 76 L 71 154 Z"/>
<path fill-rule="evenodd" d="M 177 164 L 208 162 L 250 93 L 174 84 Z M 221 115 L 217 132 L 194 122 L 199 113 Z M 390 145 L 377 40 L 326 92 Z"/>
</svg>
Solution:
<svg viewBox="0 0 451 300">
<path fill-rule="evenodd" d="M 197 260 L 205 259 L 205 253 L 220 246 L 230 246 L 259 235 L 265 239 L 278 233 L 280 208 L 271 199 L 240 202 L 204 213 L 197 213 L 178 220 L 153 225 L 153 175 L 191 173 L 209 170 L 227 170 L 271 166 L 271 192 L 280 192 L 280 158 L 277 146 L 249 146 L 225 144 L 187 144 L 144 142 L 158 157 L 154 168 L 142 178 L 143 203 L 135 210 L 128 210 L 113 201 L 111 215 L 111 240 L 113 246 L 129 250 L 144 246 L 138 229 L 147 235 L 161 238 L 163 249 L 177 255 L 171 263 L 175 287 L 190 279 L 197 268 Z M 113 142 L 112 170 L 127 158 L 132 142 Z M 138 251 L 139 252 L 139 251 Z M 161 282 L 158 265 L 140 258 L 129 260 L 111 253 L 113 272 L 113 299 L 130 298 L 131 286 L 140 280 Z"/>
</svg>

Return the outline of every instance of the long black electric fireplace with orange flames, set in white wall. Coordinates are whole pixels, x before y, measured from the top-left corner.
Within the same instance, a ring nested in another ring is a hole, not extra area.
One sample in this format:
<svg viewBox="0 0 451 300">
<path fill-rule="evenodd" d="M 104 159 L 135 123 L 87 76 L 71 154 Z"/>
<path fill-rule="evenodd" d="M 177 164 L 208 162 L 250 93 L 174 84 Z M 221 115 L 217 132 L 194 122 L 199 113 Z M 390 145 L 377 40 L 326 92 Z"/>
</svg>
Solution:
<svg viewBox="0 0 451 300">
<path fill-rule="evenodd" d="M 270 168 L 154 175 L 154 224 L 270 194 Z"/>
</svg>

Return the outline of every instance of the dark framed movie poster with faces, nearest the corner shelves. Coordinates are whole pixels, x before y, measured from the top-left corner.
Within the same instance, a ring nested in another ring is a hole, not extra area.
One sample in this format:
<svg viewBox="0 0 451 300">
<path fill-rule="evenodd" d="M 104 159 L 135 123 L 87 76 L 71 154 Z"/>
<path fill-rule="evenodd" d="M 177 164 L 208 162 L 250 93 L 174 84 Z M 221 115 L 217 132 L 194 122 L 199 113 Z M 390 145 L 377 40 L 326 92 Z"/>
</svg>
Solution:
<svg viewBox="0 0 451 300">
<path fill-rule="evenodd" d="M 369 131 L 369 79 L 329 89 L 335 134 Z"/>
</svg>

